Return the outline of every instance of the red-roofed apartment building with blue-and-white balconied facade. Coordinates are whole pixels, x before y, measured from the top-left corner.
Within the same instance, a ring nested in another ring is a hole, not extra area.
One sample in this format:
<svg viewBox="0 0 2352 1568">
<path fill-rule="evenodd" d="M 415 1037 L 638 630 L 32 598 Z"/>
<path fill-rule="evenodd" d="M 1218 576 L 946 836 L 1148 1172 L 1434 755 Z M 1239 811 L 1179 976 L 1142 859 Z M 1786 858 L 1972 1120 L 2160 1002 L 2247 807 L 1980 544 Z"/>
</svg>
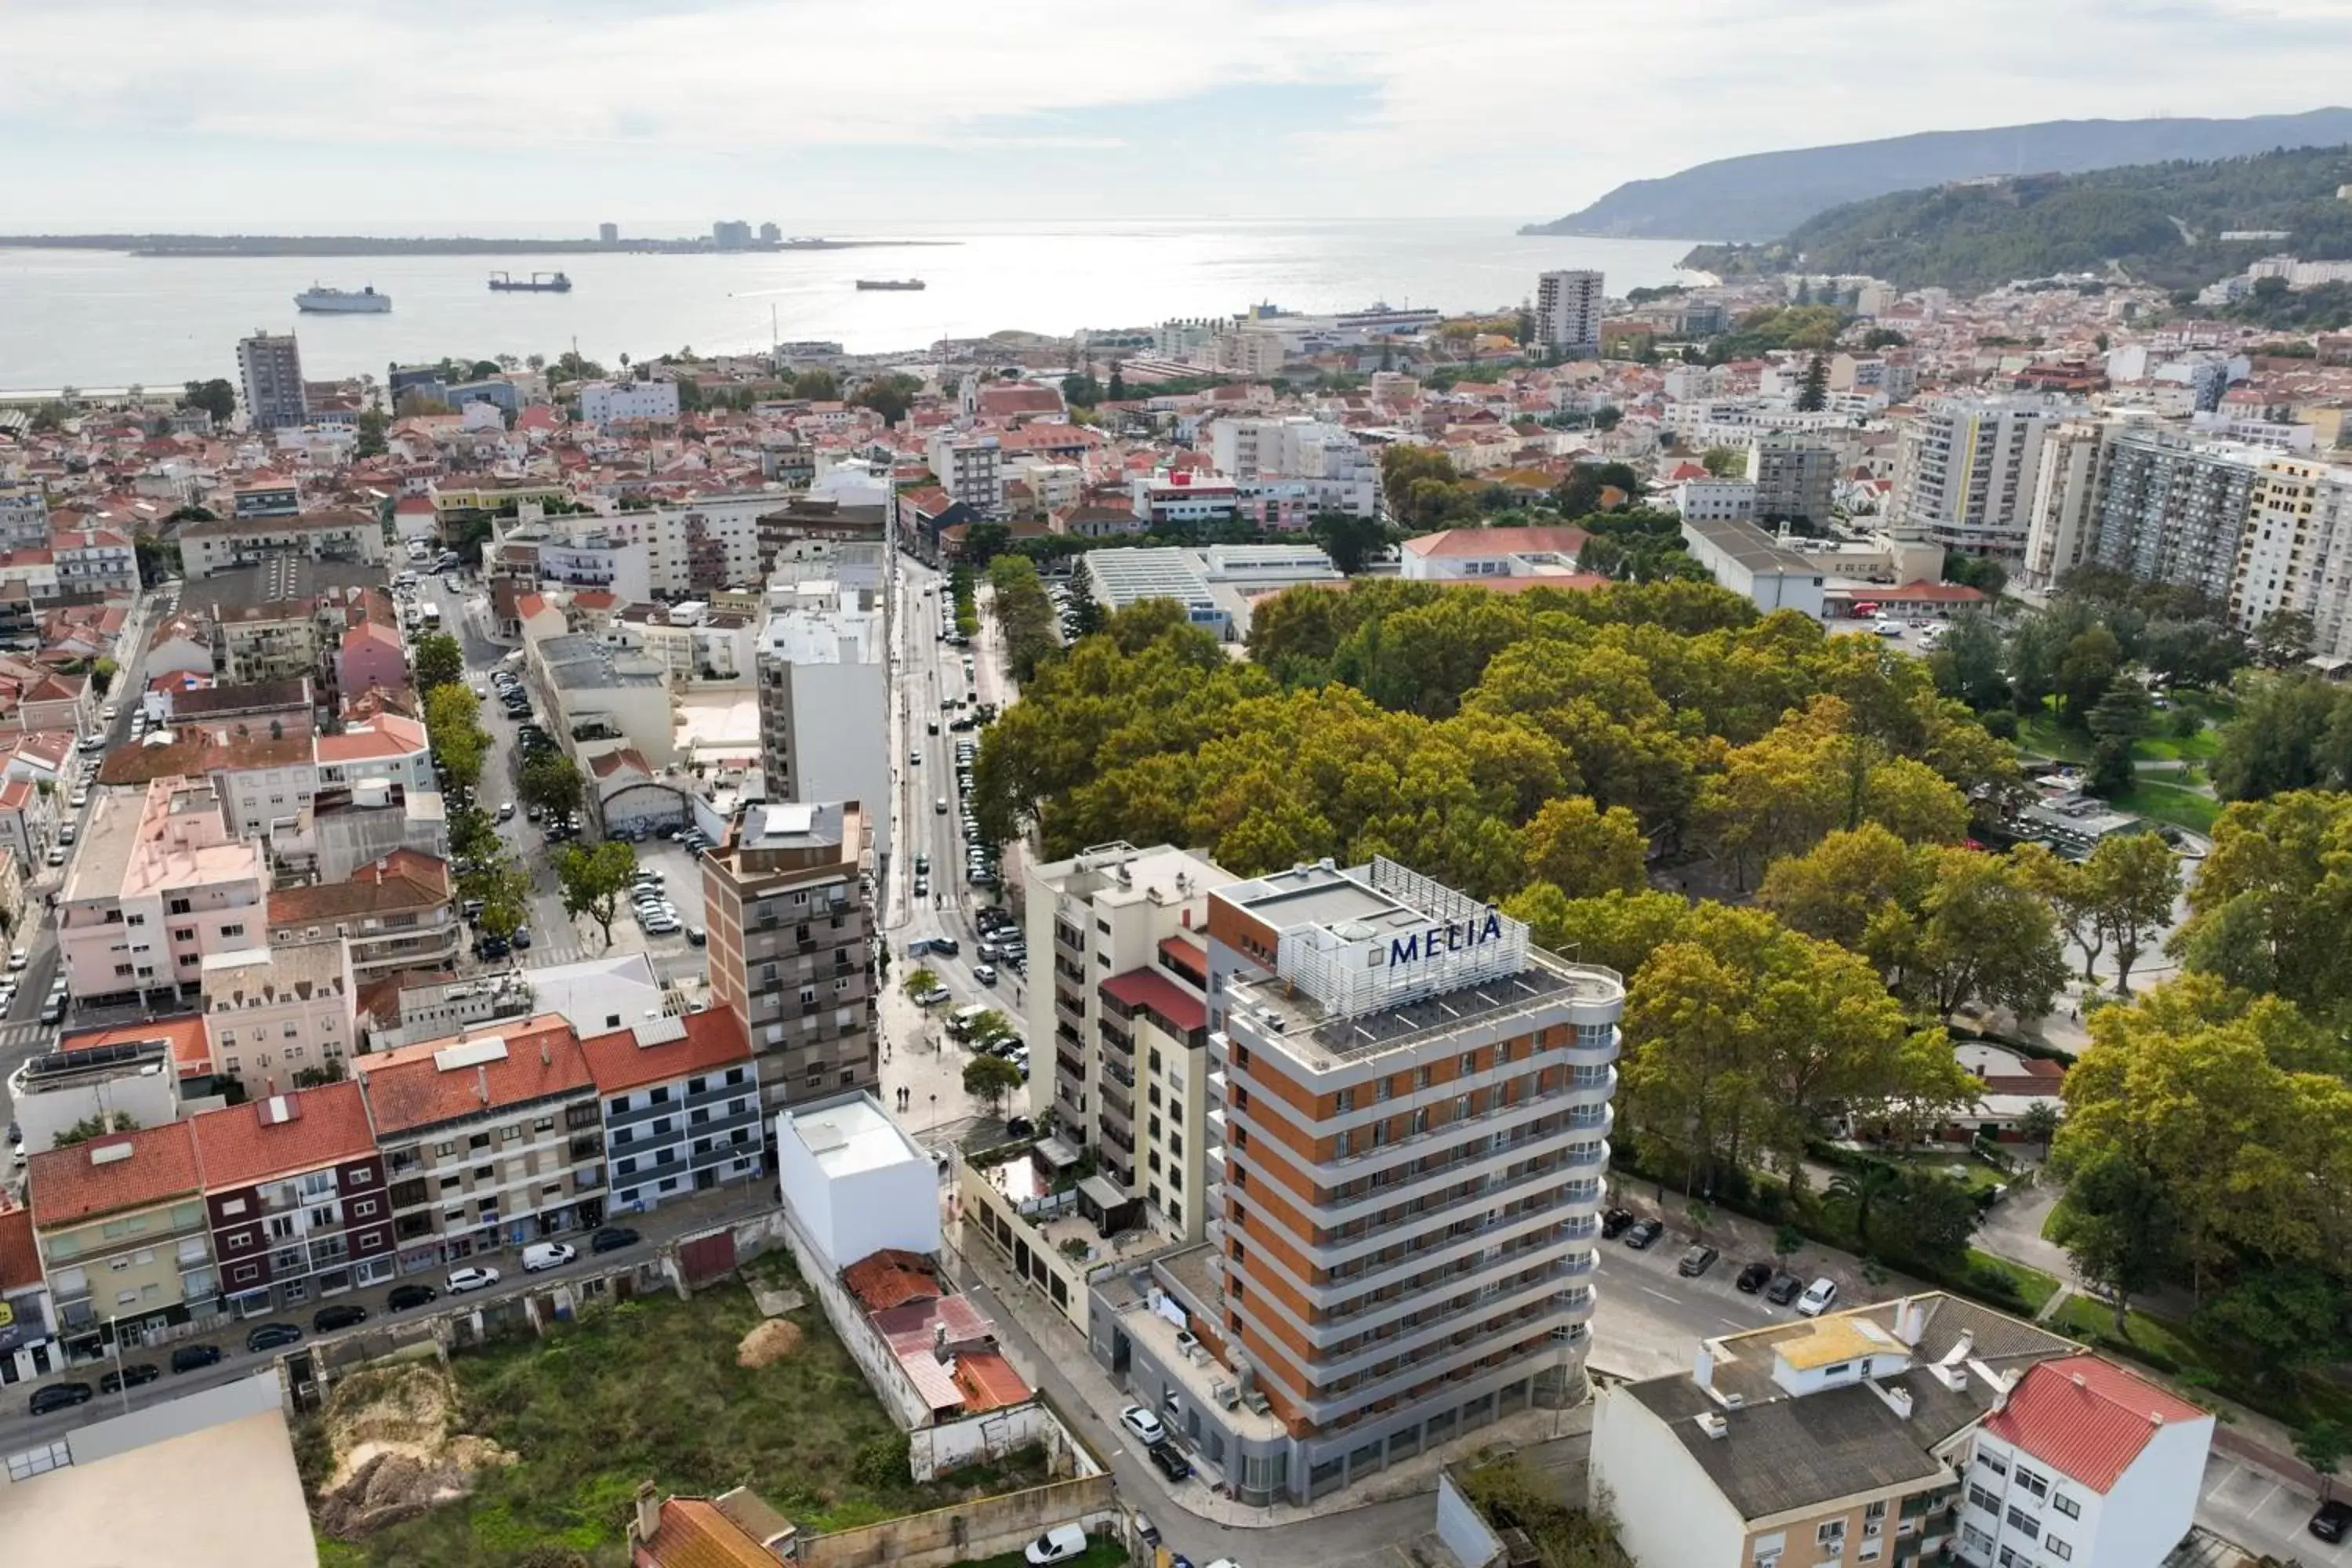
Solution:
<svg viewBox="0 0 2352 1568">
<path fill-rule="evenodd" d="M 767 1168 L 760 1072 L 734 1011 L 661 1013 L 588 1034 L 581 1053 L 604 1103 L 612 1213 L 649 1213 Z"/>
</svg>

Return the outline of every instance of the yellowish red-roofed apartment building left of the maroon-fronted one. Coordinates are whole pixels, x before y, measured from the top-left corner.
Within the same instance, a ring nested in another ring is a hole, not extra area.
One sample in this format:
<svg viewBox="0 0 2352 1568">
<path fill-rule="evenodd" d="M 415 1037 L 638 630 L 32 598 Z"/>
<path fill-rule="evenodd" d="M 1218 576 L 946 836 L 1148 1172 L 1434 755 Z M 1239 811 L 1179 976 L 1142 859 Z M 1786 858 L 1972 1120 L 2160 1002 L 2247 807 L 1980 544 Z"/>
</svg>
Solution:
<svg viewBox="0 0 2352 1568">
<path fill-rule="evenodd" d="M 186 1121 L 35 1154 L 33 1241 L 73 1356 L 155 1345 L 219 1316 L 212 1227 Z"/>
</svg>

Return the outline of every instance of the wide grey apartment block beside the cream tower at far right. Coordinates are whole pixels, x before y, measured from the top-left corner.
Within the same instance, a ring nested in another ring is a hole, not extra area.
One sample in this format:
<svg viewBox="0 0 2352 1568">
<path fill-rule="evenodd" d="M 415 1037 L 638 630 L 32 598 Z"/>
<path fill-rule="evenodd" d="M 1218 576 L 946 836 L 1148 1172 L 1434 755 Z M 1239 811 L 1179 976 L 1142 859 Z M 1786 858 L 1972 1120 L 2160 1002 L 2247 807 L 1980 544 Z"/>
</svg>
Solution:
<svg viewBox="0 0 2352 1568">
<path fill-rule="evenodd" d="M 2227 602 L 2253 517 L 2253 487 L 2270 456 L 2260 447 L 2159 425 L 2110 433 L 2098 477 L 2096 559 Z"/>
</svg>

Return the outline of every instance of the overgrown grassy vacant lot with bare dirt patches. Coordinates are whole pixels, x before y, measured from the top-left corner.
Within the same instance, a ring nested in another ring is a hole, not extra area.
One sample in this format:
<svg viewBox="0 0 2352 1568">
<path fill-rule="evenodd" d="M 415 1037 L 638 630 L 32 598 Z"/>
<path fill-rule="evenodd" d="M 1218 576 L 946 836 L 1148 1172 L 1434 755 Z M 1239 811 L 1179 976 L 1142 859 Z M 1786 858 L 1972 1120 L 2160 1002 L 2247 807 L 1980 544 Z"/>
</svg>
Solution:
<svg viewBox="0 0 2352 1568">
<path fill-rule="evenodd" d="M 760 1324 L 741 1286 L 691 1302 L 640 1298 L 546 1340 L 454 1356 L 459 1425 L 520 1462 L 487 1469 L 466 1502 L 372 1535 L 341 1561 L 454 1568 L 555 1547 L 626 1563 L 623 1521 L 640 1481 L 694 1495 L 750 1486 L 795 1523 L 842 1530 L 946 1507 L 974 1483 L 1040 1479 L 964 1472 L 915 1486 L 903 1434 L 823 1314 L 811 1305 L 790 1321 L 802 1342 L 762 1368 L 736 1366 L 736 1345 Z"/>
</svg>

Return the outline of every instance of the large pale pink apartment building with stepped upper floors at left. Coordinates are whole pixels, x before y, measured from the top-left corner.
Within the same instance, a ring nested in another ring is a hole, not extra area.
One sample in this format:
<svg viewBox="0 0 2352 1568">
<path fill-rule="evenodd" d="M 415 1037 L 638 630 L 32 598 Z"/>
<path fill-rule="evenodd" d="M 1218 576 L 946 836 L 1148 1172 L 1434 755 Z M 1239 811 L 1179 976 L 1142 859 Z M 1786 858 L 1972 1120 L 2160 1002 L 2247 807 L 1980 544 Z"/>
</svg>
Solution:
<svg viewBox="0 0 2352 1568">
<path fill-rule="evenodd" d="M 56 940 L 75 1001 L 195 999 L 205 961 L 263 945 L 268 872 L 209 780 L 108 790 L 56 896 Z"/>
</svg>

